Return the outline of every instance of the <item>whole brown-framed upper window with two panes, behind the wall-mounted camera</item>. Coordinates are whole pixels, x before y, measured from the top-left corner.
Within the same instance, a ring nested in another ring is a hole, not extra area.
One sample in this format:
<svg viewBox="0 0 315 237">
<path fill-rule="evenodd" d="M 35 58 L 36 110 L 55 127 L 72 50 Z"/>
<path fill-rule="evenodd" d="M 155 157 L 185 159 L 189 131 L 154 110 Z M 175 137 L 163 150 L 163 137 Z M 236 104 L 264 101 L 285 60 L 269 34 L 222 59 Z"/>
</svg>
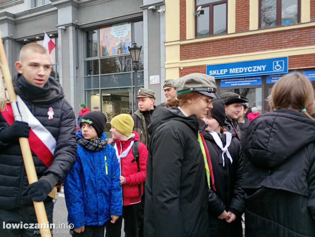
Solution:
<svg viewBox="0 0 315 237">
<path fill-rule="evenodd" d="M 196 16 L 196 37 L 207 37 L 227 33 L 227 0 L 195 0 L 203 14 Z"/>
</svg>

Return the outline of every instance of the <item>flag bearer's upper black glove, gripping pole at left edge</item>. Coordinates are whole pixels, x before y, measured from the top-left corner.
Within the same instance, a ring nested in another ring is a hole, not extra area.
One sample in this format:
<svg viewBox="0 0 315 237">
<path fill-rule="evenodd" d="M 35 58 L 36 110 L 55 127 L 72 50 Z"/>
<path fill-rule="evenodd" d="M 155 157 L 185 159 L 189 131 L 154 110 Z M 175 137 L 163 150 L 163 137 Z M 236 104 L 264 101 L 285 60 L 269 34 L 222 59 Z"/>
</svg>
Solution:
<svg viewBox="0 0 315 237">
<path fill-rule="evenodd" d="M 30 127 L 26 122 L 14 121 L 10 127 L 0 130 L 0 141 L 2 143 L 10 142 L 16 138 L 28 138 L 30 136 Z"/>
</svg>

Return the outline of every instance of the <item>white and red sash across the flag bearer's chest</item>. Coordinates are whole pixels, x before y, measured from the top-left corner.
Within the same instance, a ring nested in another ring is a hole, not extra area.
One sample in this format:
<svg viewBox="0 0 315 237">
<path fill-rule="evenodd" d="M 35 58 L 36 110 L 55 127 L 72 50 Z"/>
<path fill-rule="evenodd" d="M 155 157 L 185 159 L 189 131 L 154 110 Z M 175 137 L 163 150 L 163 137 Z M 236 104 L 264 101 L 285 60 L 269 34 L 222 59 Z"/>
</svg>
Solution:
<svg viewBox="0 0 315 237">
<path fill-rule="evenodd" d="M 49 167 L 54 161 L 57 142 L 53 135 L 34 117 L 20 96 L 17 95 L 16 97 L 22 120 L 23 122 L 27 122 L 28 126 L 31 127 L 30 137 L 28 138 L 30 148 Z M 2 111 L 1 114 L 5 121 L 11 125 L 14 122 L 11 104 L 7 104 L 7 109 L 7 111 Z"/>
</svg>

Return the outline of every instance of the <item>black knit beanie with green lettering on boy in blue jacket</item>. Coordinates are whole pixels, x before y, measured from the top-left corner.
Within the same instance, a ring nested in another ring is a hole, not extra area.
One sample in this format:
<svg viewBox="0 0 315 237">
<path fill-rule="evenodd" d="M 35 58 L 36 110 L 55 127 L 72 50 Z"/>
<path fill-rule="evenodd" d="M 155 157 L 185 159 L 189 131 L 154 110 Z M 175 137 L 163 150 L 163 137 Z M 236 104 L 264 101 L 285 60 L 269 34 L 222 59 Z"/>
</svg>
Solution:
<svg viewBox="0 0 315 237">
<path fill-rule="evenodd" d="M 89 123 L 96 130 L 97 136 L 100 138 L 104 132 L 106 124 L 106 116 L 100 111 L 91 111 L 81 117 L 80 128 L 82 123 Z"/>
</svg>

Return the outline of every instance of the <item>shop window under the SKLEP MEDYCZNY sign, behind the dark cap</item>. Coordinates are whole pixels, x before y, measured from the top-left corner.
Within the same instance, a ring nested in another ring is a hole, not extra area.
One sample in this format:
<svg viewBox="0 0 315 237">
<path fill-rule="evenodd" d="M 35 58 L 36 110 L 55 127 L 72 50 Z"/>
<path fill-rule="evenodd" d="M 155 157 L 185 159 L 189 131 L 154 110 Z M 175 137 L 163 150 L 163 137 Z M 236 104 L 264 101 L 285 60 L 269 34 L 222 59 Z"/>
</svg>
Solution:
<svg viewBox="0 0 315 237">
<path fill-rule="evenodd" d="M 262 111 L 262 88 L 256 87 L 256 88 L 231 88 L 231 89 L 221 89 L 220 94 L 226 92 L 234 92 L 238 93 L 241 96 L 245 96 L 247 99 L 249 99 L 248 102 L 248 109 L 252 107 L 257 107 L 258 112 L 261 113 Z"/>
</svg>

